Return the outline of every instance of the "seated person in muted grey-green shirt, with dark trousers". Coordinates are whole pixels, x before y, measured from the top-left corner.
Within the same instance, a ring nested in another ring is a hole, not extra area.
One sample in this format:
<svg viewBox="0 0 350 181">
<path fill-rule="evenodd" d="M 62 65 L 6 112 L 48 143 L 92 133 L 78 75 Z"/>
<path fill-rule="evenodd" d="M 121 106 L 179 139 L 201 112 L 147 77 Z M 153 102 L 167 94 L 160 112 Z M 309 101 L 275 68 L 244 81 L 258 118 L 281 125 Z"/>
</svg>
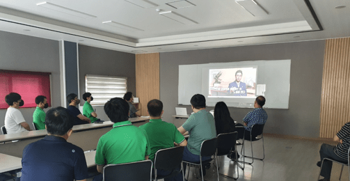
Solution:
<svg viewBox="0 0 350 181">
<path fill-rule="evenodd" d="M 212 113 L 205 110 L 204 95 L 193 95 L 191 107 L 194 113 L 177 129 L 181 134 L 189 133 L 189 141 L 184 148 L 184 157 L 182 159 L 189 162 L 200 162 L 199 152 L 202 142 L 216 137 L 215 121 Z M 207 159 L 211 159 L 211 157 L 202 157 L 202 161 Z M 186 171 L 186 164 L 184 164 L 184 171 Z M 202 172 L 205 175 L 204 167 Z M 182 173 L 178 174 L 176 180 L 180 181 L 182 179 Z"/>
</svg>

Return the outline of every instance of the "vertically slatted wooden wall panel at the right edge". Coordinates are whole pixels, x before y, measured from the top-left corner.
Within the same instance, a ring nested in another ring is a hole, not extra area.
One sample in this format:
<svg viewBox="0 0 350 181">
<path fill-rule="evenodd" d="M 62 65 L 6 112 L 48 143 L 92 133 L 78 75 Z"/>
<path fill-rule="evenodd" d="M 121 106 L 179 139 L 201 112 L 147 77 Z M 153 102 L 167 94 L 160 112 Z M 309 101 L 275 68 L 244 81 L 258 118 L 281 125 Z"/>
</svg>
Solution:
<svg viewBox="0 0 350 181">
<path fill-rule="evenodd" d="M 319 136 L 333 138 L 349 121 L 350 38 L 326 40 Z"/>
</svg>

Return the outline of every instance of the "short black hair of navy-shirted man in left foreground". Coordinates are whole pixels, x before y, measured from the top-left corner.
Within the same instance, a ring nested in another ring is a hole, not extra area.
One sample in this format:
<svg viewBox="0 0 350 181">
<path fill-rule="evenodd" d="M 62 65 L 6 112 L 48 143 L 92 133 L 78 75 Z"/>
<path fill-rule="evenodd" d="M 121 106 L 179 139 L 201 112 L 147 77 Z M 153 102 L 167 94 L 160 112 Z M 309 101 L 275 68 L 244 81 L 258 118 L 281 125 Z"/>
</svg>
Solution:
<svg viewBox="0 0 350 181">
<path fill-rule="evenodd" d="M 63 136 L 73 127 L 74 118 L 64 107 L 52 108 L 46 113 L 45 125 L 49 134 Z"/>
</svg>

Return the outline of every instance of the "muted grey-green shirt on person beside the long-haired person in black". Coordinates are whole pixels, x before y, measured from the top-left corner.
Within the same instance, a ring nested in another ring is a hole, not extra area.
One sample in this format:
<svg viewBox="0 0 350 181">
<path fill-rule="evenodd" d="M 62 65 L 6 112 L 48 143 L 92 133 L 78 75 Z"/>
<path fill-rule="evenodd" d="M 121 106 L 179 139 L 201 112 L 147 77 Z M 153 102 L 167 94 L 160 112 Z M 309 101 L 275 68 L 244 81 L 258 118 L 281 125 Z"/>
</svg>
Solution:
<svg viewBox="0 0 350 181">
<path fill-rule="evenodd" d="M 216 137 L 214 117 L 205 109 L 189 116 L 182 127 L 189 132 L 187 149 L 194 155 L 199 155 L 202 141 Z"/>
</svg>

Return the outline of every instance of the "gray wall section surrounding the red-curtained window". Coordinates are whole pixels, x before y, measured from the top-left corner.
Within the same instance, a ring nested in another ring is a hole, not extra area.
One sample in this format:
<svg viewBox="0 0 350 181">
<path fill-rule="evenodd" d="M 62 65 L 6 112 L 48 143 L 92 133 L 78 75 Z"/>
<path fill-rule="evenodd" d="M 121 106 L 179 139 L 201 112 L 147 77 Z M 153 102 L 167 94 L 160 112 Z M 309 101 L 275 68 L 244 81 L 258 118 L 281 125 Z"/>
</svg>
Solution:
<svg viewBox="0 0 350 181">
<path fill-rule="evenodd" d="M 0 31 L 0 69 L 51 72 L 51 104 L 52 107 L 61 106 L 58 41 Z M 20 109 L 32 129 L 34 110 Z M 0 126 L 3 125 L 5 113 L 6 109 L 0 110 Z"/>
</svg>

